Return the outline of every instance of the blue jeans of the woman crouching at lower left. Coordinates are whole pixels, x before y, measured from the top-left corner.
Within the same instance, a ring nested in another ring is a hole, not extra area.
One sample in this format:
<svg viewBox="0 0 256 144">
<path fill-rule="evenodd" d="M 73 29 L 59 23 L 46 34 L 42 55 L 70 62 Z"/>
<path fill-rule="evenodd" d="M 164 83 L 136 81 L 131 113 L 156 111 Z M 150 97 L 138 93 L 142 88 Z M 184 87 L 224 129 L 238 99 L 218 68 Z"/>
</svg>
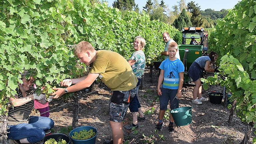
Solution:
<svg viewBox="0 0 256 144">
<path fill-rule="evenodd" d="M 27 138 L 30 143 L 36 143 L 45 136 L 45 131 L 53 128 L 54 122 L 48 117 L 30 116 L 28 123 L 8 125 L 9 139 L 20 140 Z"/>
</svg>

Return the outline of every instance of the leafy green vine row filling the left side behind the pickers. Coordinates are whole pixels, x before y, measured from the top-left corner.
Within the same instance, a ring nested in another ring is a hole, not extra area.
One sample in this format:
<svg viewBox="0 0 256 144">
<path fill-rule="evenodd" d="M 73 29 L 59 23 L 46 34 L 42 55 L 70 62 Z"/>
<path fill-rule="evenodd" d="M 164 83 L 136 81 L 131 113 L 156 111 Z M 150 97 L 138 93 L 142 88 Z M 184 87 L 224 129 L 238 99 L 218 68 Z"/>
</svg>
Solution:
<svg viewBox="0 0 256 144">
<path fill-rule="evenodd" d="M 23 70 L 37 77 L 37 86 L 47 87 L 81 75 L 85 66 L 77 69 L 80 64 L 70 45 L 86 40 L 97 50 L 112 50 L 128 59 L 139 35 L 146 40 L 146 63 L 151 64 L 163 50 L 161 34 L 166 31 L 174 38 L 178 32 L 145 13 L 121 13 L 107 3 L 92 6 L 88 0 L 3 0 L 0 11 L 1 114 Z"/>
</svg>

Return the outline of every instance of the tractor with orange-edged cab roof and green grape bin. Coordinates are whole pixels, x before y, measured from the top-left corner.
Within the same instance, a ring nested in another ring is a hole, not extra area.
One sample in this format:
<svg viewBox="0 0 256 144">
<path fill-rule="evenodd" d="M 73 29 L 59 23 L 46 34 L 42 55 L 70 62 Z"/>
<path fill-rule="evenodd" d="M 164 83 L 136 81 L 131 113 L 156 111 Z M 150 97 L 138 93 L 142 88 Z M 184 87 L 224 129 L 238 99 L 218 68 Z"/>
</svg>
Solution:
<svg viewBox="0 0 256 144">
<path fill-rule="evenodd" d="M 203 35 L 204 28 L 202 27 L 182 28 L 182 44 L 178 45 L 178 48 L 180 53 L 180 60 L 185 66 L 183 84 L 192 84 L 191 78 L 188 76 L 188 69 L 197 58 L 203 55 Z M 194 41 L 192 41 L 192 39 L 194 39 Z M 196 39 L 200 41 L 199 44 L 195 42 Z"/>
</svg>

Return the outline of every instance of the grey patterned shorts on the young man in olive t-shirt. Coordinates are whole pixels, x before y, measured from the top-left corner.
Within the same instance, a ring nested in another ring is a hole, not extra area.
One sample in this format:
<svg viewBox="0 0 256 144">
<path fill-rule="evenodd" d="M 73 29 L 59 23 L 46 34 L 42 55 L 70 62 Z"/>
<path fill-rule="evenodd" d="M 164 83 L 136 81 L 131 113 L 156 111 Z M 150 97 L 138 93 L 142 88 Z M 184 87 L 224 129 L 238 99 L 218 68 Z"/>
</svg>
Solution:
<svg viewBox="0 0 256 144">
<path fill-rule="evenodd" d="M 136 87 L 129 91 L 112 91 L 110 99 L 109 120 L 113 122 L 122 122 L 130 102 L 136 94 Z"/>
</svg>

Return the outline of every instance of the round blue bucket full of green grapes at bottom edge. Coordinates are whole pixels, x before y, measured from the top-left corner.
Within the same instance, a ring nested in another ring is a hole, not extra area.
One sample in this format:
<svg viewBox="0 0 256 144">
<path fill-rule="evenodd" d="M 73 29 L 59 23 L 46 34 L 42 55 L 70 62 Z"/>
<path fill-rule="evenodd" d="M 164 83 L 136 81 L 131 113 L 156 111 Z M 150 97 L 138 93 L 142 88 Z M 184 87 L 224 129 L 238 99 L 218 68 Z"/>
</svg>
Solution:
<svg viewBox="0 0 256 144">
<path fill-rule="evenodd" d="M 98 131 L 95 127 L 82 126 L 69 132 L 73 144 L 95 144 Z"/>
</svg>

